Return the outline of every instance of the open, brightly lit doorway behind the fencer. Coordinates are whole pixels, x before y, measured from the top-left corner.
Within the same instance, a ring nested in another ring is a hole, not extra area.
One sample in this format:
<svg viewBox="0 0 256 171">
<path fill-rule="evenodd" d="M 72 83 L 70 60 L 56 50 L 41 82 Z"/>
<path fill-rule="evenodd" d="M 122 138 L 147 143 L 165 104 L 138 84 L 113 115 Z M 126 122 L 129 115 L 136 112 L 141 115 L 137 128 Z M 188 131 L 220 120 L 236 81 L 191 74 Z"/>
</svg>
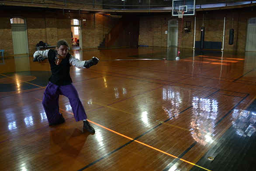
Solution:
<svg viewBox="0 0 256 171">
<path fill-rule="evenodd" d="M 80 49 L 82 45 L 81 20 L 71 20 L 72 49 Z"/>
</svg>

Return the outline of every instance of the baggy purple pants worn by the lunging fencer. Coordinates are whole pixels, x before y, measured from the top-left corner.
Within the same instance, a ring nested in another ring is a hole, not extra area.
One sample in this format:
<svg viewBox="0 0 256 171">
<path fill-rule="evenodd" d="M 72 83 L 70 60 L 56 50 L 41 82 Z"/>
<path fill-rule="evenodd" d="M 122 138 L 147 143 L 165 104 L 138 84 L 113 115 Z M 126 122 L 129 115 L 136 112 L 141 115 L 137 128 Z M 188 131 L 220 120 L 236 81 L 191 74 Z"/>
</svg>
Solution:
<svg viewBox="0 0 256 171">
<path fill-rule="evenodd" d="M 58 86 L 49 82 L 46 86 L 42 104 L 48 119 L 48 123 L 55 123 L 59 120 L 59 95 L 69 98 L 76 122 L 87 119 L 83 103 L 81 102 L 75 86 L 72 84 Z"/>
</svg>

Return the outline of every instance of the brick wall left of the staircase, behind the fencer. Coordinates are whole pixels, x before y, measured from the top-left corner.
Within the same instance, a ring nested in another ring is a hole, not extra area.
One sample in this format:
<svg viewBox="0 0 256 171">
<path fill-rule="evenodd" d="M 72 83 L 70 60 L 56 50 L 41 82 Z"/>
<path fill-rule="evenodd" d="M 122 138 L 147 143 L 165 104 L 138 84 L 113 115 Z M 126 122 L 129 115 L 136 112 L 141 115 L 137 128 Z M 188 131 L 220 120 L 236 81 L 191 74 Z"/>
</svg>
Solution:
<svg viewBox="0 0 256 171">
<path fill-rule="evenodd" d="M 3 15 L 2 15 L 3 14 Z M 23 17 L 27 23 L 28 50 L 36 51 L 36 44 L 43 41 L 56 45 L 60 39 L 65 39 L 72 46 L 71 19 L 80 19 L 83 49 L 97 48 L 114 25 L 120 20 L 117 16 L 104 16 L 101 14 L 69 14 L 65 12 L 36 11 L 2 11 L 0 15 L 0 49 L 4 55 L 13 55 L 13 41 L 10 18 Z M 86 19 L 86 21 L 83 21 Z"/>
</svg>

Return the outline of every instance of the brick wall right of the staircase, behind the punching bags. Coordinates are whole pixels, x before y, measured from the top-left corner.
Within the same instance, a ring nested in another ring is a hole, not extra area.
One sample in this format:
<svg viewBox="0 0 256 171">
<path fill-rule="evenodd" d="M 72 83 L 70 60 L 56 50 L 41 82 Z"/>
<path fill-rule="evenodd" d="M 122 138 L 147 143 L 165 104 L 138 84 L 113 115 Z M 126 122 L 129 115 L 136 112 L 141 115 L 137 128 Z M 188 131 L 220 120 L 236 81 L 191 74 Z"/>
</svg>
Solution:
<svg viewBox="0 0 256 171">
<path fill-rule="evenodd" d="M 234 14 L 233 14 L 234 13 Z M 232 28 L 232 17 L 234 32 L 234 43 L 228 44 L 229 30 Z M 196 37 L 195 41 L 201 40 L 201 27 L 204 20 L 205 36 L 204 41 L 223 41 L 223 29 L 224 29 L 224 17 L 225 17 L 225 38 L 224 38 L 224 50 L 231 51 L 244 51 L 246 44 L 246 28 L 247 21 L 251 17 L 256 17 L 256 11 L 248 12 L 214 12 L 196 15 Z M 159 15 L 159 16 L 145 16 L 140 17 L 140 44 L 148 46 L 161 46 L 167 47 L 168 34 L 168 21 L 171 19 L 178 20 L 178 46 L 181 48 L 193 48 L 194 47 L 194 16 L 184 16 L 182 19 L 178 17 L 172 17 L 171 15 Z M 181 29 L 186 26 L 186 21 L 191 21 L 191 32 L 185 33 L 185 30 Z M 166 23 L 166 26 L 164 25 Z M 180 37 L 181 36 L 181 37 Z"/>
</svg>

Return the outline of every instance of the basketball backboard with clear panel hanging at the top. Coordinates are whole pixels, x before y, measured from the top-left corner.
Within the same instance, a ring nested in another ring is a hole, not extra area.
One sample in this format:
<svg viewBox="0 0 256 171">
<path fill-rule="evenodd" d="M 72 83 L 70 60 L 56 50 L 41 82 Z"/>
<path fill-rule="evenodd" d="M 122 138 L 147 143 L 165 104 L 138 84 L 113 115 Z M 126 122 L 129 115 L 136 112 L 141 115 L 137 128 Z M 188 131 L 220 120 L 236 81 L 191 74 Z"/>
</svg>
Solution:
<svg viewBox="0 0 256 171">
<path fill-rule="evenodd" d="M 196 0 L 173 0 L 173 16 L 178 16 L 177 11 L 184 10 L 183 15 L 195 15 Z"/>
</svg>

